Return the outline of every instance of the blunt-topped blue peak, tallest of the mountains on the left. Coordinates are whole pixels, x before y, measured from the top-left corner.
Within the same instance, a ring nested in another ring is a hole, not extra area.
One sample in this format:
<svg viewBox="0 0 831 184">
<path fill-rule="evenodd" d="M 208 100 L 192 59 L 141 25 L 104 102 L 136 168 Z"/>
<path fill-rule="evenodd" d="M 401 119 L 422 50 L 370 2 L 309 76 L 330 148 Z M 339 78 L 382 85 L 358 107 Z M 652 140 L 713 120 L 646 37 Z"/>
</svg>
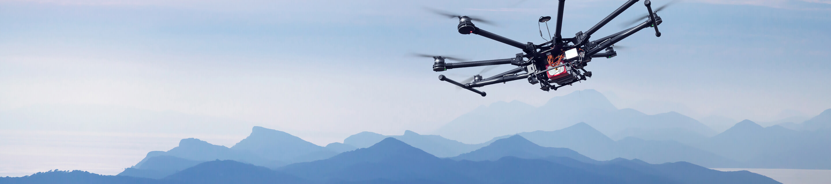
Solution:
<svg viewBox="0 0 831 184">
<path fill-rule="evenodd" d="M 337 154 L 292 134 L 263 127 L 253 127 L 248 138 L 239 141 L 231 149 L 248 151 L 268 160 L 286 163 L 320 160 Z"/>
</svg>

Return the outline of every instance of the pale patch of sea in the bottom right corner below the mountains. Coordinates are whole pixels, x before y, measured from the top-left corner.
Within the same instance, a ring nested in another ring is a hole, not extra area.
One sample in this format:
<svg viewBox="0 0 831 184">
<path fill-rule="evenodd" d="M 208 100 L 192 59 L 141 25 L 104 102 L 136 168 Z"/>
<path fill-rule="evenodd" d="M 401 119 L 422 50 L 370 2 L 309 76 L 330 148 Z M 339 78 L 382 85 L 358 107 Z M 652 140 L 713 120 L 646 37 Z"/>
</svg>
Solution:
<svg viewBox="0 0 831 184">
<path fill-rule="evenodd" d="M 831 170 L 712 168 L 722 172 L 749 171 L 773 178 L 783 184 L 831 184 Z"/>
</svg>

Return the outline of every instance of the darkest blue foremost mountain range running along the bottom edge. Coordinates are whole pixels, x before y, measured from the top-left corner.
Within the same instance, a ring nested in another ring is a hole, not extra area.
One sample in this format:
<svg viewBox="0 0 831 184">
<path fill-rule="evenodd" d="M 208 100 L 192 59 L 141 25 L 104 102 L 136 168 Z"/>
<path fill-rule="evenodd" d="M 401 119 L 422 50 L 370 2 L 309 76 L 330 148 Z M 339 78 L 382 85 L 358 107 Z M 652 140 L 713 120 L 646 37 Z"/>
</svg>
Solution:
<svg viewBox="0 0 831 184">
<path fill-rule="evenodd" d="M 516 145 L 514 143 L 519 143 Z M 0 177 L 17 183 L 779 183 L 747 171 L 720 172 L 688 162 L 649 164 L 623 158 L 580 162 L 566 148 L 546 149 L 520 136 L 475 151 L 484 161 L 440 158 L 396 138 L 327 159 L 269 169 L 231 160 L 202 162 L 160 179 L 89 172 L 38 172 Z M 505 152 L 514 150 L 514 152 Z M 506 154 L 507 153 L 507 154 Z M 541 159 L 514 157 L 534 155 Z M 528 154 L 534 153 L 534 154 Z M 538 154 L 543 153 L 543 154 Z M 491 161 L 489 157 L 503 156 Z M 578 157 L 578 156 L 577 156 Z M 585 157 L 581 158 L 585 159 Z"/>
</svg>

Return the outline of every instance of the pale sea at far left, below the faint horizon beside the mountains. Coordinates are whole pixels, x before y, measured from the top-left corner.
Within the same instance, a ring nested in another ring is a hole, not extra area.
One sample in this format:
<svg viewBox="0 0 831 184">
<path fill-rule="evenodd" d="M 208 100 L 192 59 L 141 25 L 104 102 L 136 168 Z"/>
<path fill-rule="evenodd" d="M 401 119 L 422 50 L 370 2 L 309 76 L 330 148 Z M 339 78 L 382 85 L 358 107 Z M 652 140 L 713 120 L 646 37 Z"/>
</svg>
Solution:
<svg viewBox="0 0 831 184">
<path fill-rule="evenodd" d="M 245 135 L 94 133 L 0 129 L 0 177 L 49 170 L 82 170 L 116 175 L 150 151 L 167 151 L 182 138 L 233 146 Z"/>
</svg>

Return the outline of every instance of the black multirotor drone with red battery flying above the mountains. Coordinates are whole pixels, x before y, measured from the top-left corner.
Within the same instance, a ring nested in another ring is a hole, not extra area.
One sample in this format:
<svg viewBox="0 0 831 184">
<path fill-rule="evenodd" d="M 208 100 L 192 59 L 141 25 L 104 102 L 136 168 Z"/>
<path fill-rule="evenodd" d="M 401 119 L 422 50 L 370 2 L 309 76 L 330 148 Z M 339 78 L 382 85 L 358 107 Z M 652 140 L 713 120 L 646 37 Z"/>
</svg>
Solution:
<svg viewBox="0 0 831 184">
<path fill-rule="evenodd" d="M 453 57 L 448 56 L 430 56 L 434 59 L 433 70 L 445 71 L 456 68 L 466 68 L 485 65 L 515 65 L 516 68 L 502 72 L 498 75 L 489 78 L 483 78 L 482 75 L 474 75 L 470 82 L 462 84 L 455 80 L 450 80 L 445 75 L 439 75 L 439 80 L 447 81 L 450 84 L 457 85 L 462 89 L 473 91 L 477 94 L 485 96 L 483 91 L 474 88 L 485 85 L 494 85 L 498 83 L 505 83 L 513 80 L 527 79 L 531 85 L 540 85 L 540 90 L 549 91 L 557 90 L 565 85 L 572 85 L 581 80 L 587 80 L 592 77 L 592 72 L 585 69 L 592 58 L 606 57 L 612 58 L 617 56 L 612 46 L 621 41 L 627 36 L 631 36 L 637 31 L 641 31 L 647 27 L 655 28 L 655 36 L 661 36 L 661 31 L 658 31 L 658 25 L 661 25 L 661 17 L 658 17 L 657 12 L 663 7 L 658 7 L 655 12 L 652 11 L 652 2 L 646 0 L 644 5 L 647 7 L 647 16 L 637 19 L 636 21 L 648 18 L 645 22 L 638 24 L 635 27 L 628 28 L 623 31 L 618 31 L 609 36 L 602 37 L 597 40 L 590 40 L 592 34 L 612 21 L 615 17 L 620 15 L 627 8 L 632 7 L 635 2 L 639 0 L 629 0 L 621 7 L 618 7 L 614 12 L 597 22 L 594 27 L 588 31 L 578 31 L 574 37 L 563 38 L 560 34 L 563 28 L 563 6 L 565 0 L 559 0 L 557 12 L 557 26 L 554 29 L 554 36 L 550 41 L 539 45 L 534 45 L 532 42 L 521 43 L 503 36 L 496 35 L 489 31 L 476 27 L 474 21 L 489 23 L 481 19 L 475 19 L 468 16 L 450 15 L 449 13 L 441 13 L 445 16 L 458 17 L 459 26 L 457 30 L 463 35 L 476 34 L 490 38 L 494 41 L 499 41 L 509 46 L 514 46 L 521 49 L 523 52 L 516 54 L 516 56 L 507 59 L 489 60 L 489 61 L 465 61 L 465 62 L 445 62 L 445 60 L 454 60 Z M 665 6 L 666 7 L 666 6 Z M 551 20 L 551 17 L 540 17 L 538 22 L 546 22 Z M 542 36 L 542 30 L 540 30 Z M 601 52 L 603 51 L 603 52 Z M 459 61 L 456 59 L 455 61 Z M 524 72 L 519 74 L 519 72 Z"/>
</svg>

